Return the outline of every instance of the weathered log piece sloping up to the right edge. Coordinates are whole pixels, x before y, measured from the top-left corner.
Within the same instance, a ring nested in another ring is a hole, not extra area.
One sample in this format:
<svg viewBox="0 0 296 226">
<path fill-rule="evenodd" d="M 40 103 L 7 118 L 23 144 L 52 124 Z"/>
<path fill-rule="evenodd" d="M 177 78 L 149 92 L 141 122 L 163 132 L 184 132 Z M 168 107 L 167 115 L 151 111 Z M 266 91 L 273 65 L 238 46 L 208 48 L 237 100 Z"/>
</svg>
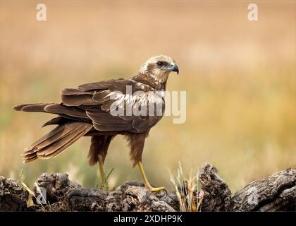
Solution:
<svg viewBox="0 0 296 226">
<path fill-rule="evenodd" d="M 296 169 L 254 181 L 231 198 L 233 211 L 296 211 Z"/>
</svg>

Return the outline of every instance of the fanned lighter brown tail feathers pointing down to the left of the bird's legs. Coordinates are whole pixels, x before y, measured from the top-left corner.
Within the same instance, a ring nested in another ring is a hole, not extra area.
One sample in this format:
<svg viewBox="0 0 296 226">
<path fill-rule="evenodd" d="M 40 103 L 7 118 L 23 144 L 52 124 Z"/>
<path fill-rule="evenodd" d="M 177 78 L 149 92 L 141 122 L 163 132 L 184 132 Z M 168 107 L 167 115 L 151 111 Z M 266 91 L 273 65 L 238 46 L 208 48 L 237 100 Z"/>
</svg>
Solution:
<svg viewBox="0 0 296 226">
<path fill-rule="evenodd" d="M 23 161 L 30 162 L 37 158 L 49 159 L 56 157 L 90 129 L 92 129 L 92 124 L 78 121 L 56 126 L 47 135 L 25 149 Z"/>
</svg>

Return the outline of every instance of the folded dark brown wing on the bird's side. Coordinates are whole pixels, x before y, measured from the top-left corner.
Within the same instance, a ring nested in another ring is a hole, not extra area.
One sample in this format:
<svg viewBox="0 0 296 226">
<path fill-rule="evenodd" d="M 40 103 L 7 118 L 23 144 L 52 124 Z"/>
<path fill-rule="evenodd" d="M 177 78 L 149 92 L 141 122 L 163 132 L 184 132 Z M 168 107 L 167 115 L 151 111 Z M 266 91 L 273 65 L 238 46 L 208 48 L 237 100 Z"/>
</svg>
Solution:
<svg viewBox="0 0 296 226">
<path fill-rule="evenodd" d="M 140 83 L 141 84 L 141 83 Z M 127 85 L 131 86 L 131 91 L 147 91 L 147 85 L 139 85 L 133 80 L 109 80 L 98 83 L 87 83 L 78 88 L 66 88 L 62 91 L 62 105 L 49 105 L 44 109 L 47 112 L 77 117 L 79 119 L 90 119 L 94 128 L 98 131 L 132 131 L 141 133 L 148 131 L 161 117 L 127 116 L 126 109 L 124 115 L 113 116 L 110 114 L 114 102 L 124 102 L 123 100 L 132 98 L 125 95 Z M 130 89 L 130 88 L 129 88 Z M 153 90 L 153 88 L 151 88 Z M 149 90 L 151 90 L 149 88 Z M 121 93 L 115 99 L 111 97 L 113 92 Z M 120 98 L 120 100 L 118 99 Z M 132 105 L 142 101 L 141 98 L 130 99 Z M 123 104 L 121 107 L 126 108 Z"/>
</svg>

